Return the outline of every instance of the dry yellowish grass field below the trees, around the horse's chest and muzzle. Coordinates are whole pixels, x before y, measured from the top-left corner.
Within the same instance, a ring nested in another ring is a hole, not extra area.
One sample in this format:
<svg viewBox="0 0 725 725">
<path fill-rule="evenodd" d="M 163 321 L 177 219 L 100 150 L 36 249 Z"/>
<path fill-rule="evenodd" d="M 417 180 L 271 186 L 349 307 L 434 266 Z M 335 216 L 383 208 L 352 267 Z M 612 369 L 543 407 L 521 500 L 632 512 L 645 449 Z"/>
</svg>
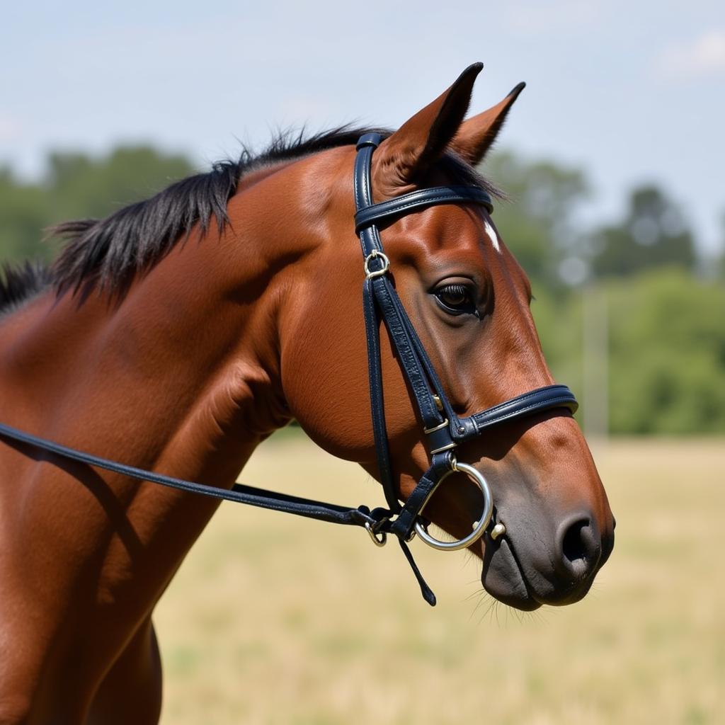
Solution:
<svg viewBox="0 0 725 725">
<path fill-rule="evenodd" d="M 595 451 L 616 547 L 589 596 L 522 616 L 468 555 L 223 504 L 157 610 L 164 725 L 725 723 L 725 441 Z M 242 480 L 382 501 L 355 465 L 272 439 Z"/>
</svg>

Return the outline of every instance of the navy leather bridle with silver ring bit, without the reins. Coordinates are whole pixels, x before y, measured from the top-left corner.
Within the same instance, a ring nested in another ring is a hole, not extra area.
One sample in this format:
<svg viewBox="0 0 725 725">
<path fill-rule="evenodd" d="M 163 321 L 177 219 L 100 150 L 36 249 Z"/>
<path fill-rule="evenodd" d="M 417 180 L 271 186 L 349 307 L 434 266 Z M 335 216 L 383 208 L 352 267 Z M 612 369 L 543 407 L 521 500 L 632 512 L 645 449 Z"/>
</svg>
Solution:
<svg viewBox="0 0 725 725">
<path fill-rule="evenodd" d="M 365 262 L 365 283 L 363 287 L 363 310 L 365 312 L 365 334 L 368 339 L 368 374 L 370 376 L 370 407 L 373 418 L 378 471 L 389 507 L 376 524 L 365 528 L 373 540 L 384 544 L 386 534 L 395 534 L 401 544 L 409 542 L 418 534 L 426 544 L 440 550 L 458 550 L 470 546 L 483 536 L 492 520 L 493 497 L 484 476 L 472 465 L 460 463 L 455 457 L 458 444 L 481 435 L 484 430 L 501 423 L 513 421 L 526 415 L 551 408 L 566 408 L 574 413 L 578 403 L 565 385 L 549 385 L 531 390 L 511 398 L 481 413 L 459 418 L 445 394 L 436 370 L 415 333 L 413 323 L 405 312 L 390 280 L 390 261 L 383 251 L 378 223 L 405 215 L 414 210 L 434 204 L 479 204 L 489 213 L 493 204 L 489 194 L 477 186 L 436 186 L 411 191 L 387 202 L 373 203 L 371 167 L 373 152 L 381 143 L 379 133 L 366 133 L 357 141 L 355 157 L 355 231 L 360 235 Z M 423 423 L 431 466 L 423 474 L 405 505 L 400 505 L 397 487 L 392 476 L 388 436 L 385 425 L 383 385 L 380 362 L 380 339 L 378 330 L 383 320 L 392 340 L 394 350 L 410 388 L 410 394 Z M 455 471 L 465 473 L 479 486 L 484 497 L 484 511 L 463 539 L 443 542 L 428 534 L 421 512 L 435 489 Z M 492 535 L 505 532 L 499 523 Z M 410 560 L 410 552 L 404 549 Z M 435 602 L 425 582 L 413 567 L 421 583 L 423 597 L 431 604 Z M 427 591 L 426 591 L 427 590 Z"/>
</svg>

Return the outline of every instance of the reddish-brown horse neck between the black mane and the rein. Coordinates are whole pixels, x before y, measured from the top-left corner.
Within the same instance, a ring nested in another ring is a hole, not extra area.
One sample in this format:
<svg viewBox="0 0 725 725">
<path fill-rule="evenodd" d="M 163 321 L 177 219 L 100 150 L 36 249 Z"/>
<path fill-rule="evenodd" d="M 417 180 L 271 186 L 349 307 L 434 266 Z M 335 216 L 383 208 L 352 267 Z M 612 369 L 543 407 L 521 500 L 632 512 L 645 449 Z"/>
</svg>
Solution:
<svg viewBox="0 0 725 725">
<path fill-rule="evenodd" d="M 304 235 L 292 220 L 289 237 L 270 235 L 265 218 L 283 218 L 274 199 L 286 196 L 280 182 L 261 183 L 282 169 L 246 178 L 229 203 L 232 224 L 177 244 L 120 304 L 49 291 L 6 318 L 0 379 L 13 394 L 4 419 L 96 455 L 231 486 L 290 418 L 275 278 L 305 253 Z"/>
</svg>

